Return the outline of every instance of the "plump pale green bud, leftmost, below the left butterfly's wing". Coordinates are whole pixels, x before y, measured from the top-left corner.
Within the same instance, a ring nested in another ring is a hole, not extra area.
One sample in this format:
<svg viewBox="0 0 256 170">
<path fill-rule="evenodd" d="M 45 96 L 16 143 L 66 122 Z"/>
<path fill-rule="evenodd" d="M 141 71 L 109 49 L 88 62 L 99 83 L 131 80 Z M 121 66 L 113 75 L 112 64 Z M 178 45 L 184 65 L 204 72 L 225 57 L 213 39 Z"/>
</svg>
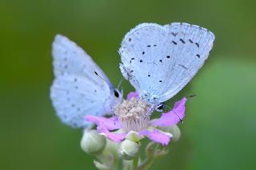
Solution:
<svg viewBox="0 0 256 170">
<path fill-rule="evenodd" d="M 86 129 L 81 140 L 81 148 L 89 154 L 97 154 L 102 152 L 106 146 L 106 137 L 99 135 L 94 129 Z"/>
</svg>

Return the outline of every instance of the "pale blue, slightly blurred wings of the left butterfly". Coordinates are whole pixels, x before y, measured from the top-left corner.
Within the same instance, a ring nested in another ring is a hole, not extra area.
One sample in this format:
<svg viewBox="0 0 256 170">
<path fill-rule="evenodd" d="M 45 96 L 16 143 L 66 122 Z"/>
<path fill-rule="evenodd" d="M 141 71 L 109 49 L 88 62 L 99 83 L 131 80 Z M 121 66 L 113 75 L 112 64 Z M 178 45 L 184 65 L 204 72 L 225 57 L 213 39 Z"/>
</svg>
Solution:
<svg viewBox="0 0 256 170">
<path fill-rule="evenodd" d="M 113 86 L 82 48 L 57 35 L 52 45 L 52 56 L 55 79 L 50 97 L 63 123 L 86 128 L 91 125 L 85 121 L 86 115 L 110 113 L 110 104 L 115 100 L 111 93 Z"/>
</svg>

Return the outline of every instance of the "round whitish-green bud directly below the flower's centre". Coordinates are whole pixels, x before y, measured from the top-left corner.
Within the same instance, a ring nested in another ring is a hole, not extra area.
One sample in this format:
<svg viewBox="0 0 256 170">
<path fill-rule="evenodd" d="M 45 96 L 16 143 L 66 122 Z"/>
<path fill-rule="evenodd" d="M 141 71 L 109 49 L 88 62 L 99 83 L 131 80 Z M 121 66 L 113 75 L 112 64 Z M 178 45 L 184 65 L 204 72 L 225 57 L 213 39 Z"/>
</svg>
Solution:
<svg viewBox="0 0 256 170">
<path fill-rule="evenodd" d="M 132 140 L 123 140 L 120 144 L 119 153 L 124 160 L 133 160 L 138 156 L 140 144 Z"/>
</svg>

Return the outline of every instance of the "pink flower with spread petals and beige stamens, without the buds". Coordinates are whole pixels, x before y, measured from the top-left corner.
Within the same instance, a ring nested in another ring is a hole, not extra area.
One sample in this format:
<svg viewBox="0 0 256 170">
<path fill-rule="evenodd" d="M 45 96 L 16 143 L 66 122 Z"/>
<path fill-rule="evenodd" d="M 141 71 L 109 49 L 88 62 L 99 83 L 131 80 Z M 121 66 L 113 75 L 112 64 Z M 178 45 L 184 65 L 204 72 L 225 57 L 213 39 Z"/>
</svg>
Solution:
<svg viewBox="0 0 256 170">
<path fill-rule="evenodd" d="M 114 113 L 117 116 L 106 118 L 88 115 L 86 121 L 94 122 L 99 133 L 116 142 L 121 142 L 131 133 L 136 133 L 141 138 L 146 136 L 154 142 L 169 144 L 172 134 L 162 132 L 158 127 L 177 125 L 182 121 L 185 117 L 186 97 L 176 102 L 169 112 L 162 113 L 160 118 L 152 121 L 146 116 L 149 105 L 138 100 L 138 93 L 129 93 L 127 99 L 115 109 Z"/>
</svg>

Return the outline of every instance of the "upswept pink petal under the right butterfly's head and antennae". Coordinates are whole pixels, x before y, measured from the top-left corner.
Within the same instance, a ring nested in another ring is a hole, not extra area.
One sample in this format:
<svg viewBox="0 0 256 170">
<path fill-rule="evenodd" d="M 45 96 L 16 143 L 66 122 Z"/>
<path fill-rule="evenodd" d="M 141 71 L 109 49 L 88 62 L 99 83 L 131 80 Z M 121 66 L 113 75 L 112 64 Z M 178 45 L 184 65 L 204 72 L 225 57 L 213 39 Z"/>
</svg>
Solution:
<svg viewBox="0 0 256 170">
<path fill-rule="evenodd" d="M 183 97 L 182 100 L 175 102 L 173 109 L 168 113 L 162 113 L 161 117 L 151 122 L 151 124 L 154 126 L 177 125 L 185 117 L 185 103 L 186 97 Z"/>
</svg>

